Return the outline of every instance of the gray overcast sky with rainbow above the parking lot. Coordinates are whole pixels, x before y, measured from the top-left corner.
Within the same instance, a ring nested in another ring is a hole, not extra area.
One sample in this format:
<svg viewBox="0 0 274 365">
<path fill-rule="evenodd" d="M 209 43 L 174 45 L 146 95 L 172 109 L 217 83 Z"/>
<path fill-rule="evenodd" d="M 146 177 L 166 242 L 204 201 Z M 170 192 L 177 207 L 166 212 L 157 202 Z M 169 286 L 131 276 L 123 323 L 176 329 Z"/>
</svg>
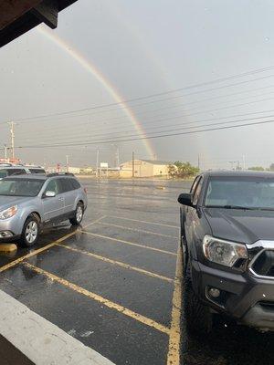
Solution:
<svg viewBox="0 0 274 365">
<path fill-rule="evenodd" d="M 16 154 L 25 162 L 64 164 L 68 155 L 71 165 L 93 165 L 99 148 L 111 165 L 119 149 L 121 162 L 134 151 L 195 164 L 199 156 L 205 169 L 243 158 L 269 166 L 274 123 L 119 140 L 144 135 L 129 113 L 147 136 L 274 120 L 273 17 L 271 0 L 79 0 L 48 29 L 58 41 L 34 29 L 0 49 L 0 145 L 10 143 L 6 122 L 17 120 L 16 146 L 24 148 Z M 261 68 L 269 69 L 186 89 Z M 165 94 L 129 102 L 131 111 L 101 107 L 117 103 L 118 93 L 120 100 Z M 85 111 L 33 119 L 74 110 Z"/>
</svg>

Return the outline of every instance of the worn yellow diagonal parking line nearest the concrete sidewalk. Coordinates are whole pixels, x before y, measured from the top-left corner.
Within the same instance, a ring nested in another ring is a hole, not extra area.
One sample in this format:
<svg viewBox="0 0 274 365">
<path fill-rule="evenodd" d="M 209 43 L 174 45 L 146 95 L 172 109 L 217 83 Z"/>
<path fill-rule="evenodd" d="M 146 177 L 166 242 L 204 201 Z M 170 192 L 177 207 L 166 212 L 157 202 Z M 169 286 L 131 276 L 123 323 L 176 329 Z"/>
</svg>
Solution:
<svg viewBox="0 0 274 365">
<path fill-rule="evenodd" d="M 79 287 L 76 284 L 70 283 L 69 281 L 67 281 L 59 276 L 56 276 L 54 274 L 51 274 L 51 273 L 47 272 L 46 270 L 43 270 L 37 266 L 33 266 L 26 262 L 24 263 L 24 265 L 26 267 L 32 269 L 33 271 L 37 272 L 37 274 L 47 276 L 51 280 L 58 282 L 58 284 L 68 287 L 69 289 L 72 289 L 86 297 L 90 297 L 91 299 L 96 300 L 97 302 L 100 302 L 104 306 L 111 308 L 111 309 L 115 309 L 118 312 L 121 312 L 122 314 L 124 314 L 125 316 L 135 319 L 135 320 L 145 324 L 146 326 L 155 328 L 163 333 L 166 333 L 167 335 L 170 334 L 170 328 L 167 328 L 167 327 L 163 326 L 162 324 L 155 322 L 153 319 L 146 318 L 146 317 L 142 316 L 141 314 L 133 312 L 131 309 L 124 308 L 117 303 L 111 302 L 111 300 L 109 300 L 105 297 L 100 297 L 98 294 L 92 293 L 89 290 L 84 289 L 83 287 Z"/>
</svg>

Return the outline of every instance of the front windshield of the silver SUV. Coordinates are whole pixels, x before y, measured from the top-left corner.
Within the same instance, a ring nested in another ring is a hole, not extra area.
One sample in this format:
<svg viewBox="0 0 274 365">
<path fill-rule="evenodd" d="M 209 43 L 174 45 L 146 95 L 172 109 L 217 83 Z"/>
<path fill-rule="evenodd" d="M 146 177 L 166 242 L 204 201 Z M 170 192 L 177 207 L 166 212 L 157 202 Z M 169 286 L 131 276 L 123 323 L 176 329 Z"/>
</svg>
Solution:
<svg viewBox="0 0 274 365">
<path fill-rule="evenodd" d="M 43 180 L 5 179 L 0 181 L 0 195 L 37 196 L 44 184 Z"/>
</svg>

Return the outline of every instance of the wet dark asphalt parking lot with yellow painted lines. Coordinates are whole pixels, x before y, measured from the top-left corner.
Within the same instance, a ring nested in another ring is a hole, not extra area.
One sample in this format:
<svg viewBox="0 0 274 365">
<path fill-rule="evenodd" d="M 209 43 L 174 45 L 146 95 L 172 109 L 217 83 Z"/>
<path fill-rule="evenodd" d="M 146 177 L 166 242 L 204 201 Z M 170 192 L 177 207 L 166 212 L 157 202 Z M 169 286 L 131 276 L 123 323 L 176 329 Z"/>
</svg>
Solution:
<svg viewBox="0 0 274 365">
<path fill-rule="evenodd" d="M 190 183 L 81 181 L 89 208 L 32 250 L 0 255 L 0 289 L 120 364 L 178 364 L 177 195 Z M 184 342 L 184 336 L 182 341 Z M 226 322 L 190 339 L 186 365 L 272 364 L 274 337 Z M 181 358 L 181 361 L 182 361 Z"/>
</svg>

